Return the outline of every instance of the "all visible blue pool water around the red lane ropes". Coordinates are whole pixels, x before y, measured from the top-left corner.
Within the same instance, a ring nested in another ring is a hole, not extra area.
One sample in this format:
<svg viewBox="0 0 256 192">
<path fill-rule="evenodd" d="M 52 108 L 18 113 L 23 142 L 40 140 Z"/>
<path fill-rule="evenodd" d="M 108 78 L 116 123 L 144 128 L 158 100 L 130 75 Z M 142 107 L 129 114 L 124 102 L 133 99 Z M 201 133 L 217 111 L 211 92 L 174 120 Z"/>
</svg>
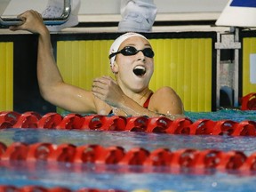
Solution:
<svg viewBox="0 0 256 192">
<path fill-rule="evenodd" d="M 186 115 L 193 121 L 202 118 L 212 120 L 231 119 L 237 122 L 256 121 L 255 111 L 220 110 L 212 113 L 192 113 Z M 60 131 L 43 129 L 5 129 L 0 130 L 0 141 L 6 145 L 12 142 L 51 142 L 54 144 L 72 143 L 76 146 L 100 144 L 101 146 L 122 146 L 125 150 L 135 147 L 150 151 L 156 148 L 207 149 L 223 151 L 240 150 L 246 156 L 256 151 L 255 137 L 230 137 L 210 135 L 171 135 L 147 132 L 97 132 L 97 131 Z M 49 167 L 50 166 L 50 167 Z M 123 167 L 124 168 L 124 167 Z M 126 167 L 127 168 L 127 167 Z M 105 170 L 105 171 L 102 171 Z M 255 191 L 256 173 L 241 175 L 239 172 L 213 172 L 204 174 L 169 172 L 166 167 L 155 172 L 143 172 L 141 166 L 132 166 L 130 172 L 118 172 L 120 165 L 51 163 L 33 164 L 31 162 L 0 161 L 0 185 L 17 187 L 39 185 L 47 188 L 148 189 L 150 191 Z M 167 171 L 165 170 L 167 169 Z M 100 171 L 101 170 L 101 171 Z"/>
</svg>

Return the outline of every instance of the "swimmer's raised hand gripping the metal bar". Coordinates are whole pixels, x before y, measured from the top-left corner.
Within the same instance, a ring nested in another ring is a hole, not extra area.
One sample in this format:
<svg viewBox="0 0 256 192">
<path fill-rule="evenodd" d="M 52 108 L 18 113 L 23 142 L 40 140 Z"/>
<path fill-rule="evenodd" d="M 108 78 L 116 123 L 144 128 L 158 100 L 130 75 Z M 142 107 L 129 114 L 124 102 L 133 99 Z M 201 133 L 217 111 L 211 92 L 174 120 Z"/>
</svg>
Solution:
<svg viewBox="0 0 256 192">
<path fill-rule="evenodd" d="M 20 26 L 11 26 L 10 29 L 15 30 L 28 30 L 31 33 L 40 34 L 45 30 L 44 20 L 39 12 L 30 10 L 27 12 L 23 12 L 18 15 L 20 20 L 23 20 L 24 23 Z M 47 28 L 46 28 L 47 29 Z"/>
</svg>

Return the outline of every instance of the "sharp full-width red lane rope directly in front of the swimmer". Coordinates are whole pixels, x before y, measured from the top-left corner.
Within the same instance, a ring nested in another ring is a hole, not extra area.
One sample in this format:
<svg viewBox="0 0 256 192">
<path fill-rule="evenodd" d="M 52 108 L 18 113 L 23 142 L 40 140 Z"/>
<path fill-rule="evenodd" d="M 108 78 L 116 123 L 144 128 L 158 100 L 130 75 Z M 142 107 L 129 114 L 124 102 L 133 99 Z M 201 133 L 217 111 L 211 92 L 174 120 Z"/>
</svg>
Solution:
<svg viewBox="0 0 256 192">
<path fill-rule="evenodd" d="M 0 112 L 0 129 L 6 128 L 43 128 L 60 130 L 92 130 L 92 131 L 126 131 L 126 132 L 161 132 L 187 135 L 230 135 L 255 136 L 256 122 L 232 120 L 212 121 L 199 119 L 192 122 L 187 117 L 170 120 L 167 117 L 148 116 L 81 116 L 48 113 L 40 116 L 29 111 L 19 114 L 13 111 Z"/>
</svg>

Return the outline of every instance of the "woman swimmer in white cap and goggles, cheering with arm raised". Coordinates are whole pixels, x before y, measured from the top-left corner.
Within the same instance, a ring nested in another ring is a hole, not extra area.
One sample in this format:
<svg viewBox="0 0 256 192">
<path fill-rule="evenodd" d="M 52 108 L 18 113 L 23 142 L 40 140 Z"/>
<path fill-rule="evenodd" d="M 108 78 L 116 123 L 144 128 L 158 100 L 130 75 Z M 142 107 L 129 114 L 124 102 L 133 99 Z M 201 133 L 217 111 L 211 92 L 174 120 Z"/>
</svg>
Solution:
<svg viewBox="0 0 256 192">
<path fill-rule="evenodd" d="M 37 79 L 40 92 L 53 105 L 78 114 L 115 114 L 116 116 L 183 116 L 183 104 L 171 87 L 152 92 L 149 81 L 154 72 L 154 55 L 145 36 L 126 33 L 119 36 L 109 51 L 110 68 L 115 79 L 100 76 L 92 90 L 66 84 L 53 53 L 49 30 L 40 13 L 27 11 L 19 16 L 24 23 L 11 30 L 38 34 Z"/>
</svg>

